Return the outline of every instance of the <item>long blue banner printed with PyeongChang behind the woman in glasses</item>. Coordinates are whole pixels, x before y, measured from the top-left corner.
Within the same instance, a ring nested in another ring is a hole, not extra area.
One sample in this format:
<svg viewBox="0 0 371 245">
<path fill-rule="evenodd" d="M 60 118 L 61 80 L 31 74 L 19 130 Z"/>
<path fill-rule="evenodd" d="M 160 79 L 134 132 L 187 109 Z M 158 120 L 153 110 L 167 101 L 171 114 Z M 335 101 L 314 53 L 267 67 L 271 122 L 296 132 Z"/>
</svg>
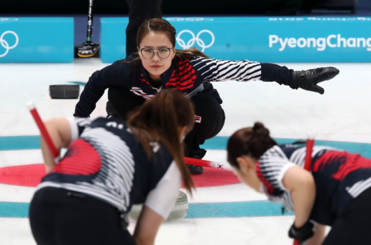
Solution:
<svg viewBox="0 0 371 245">
<path fill-rule="evenodd" d="M 177 49 L 260 62 L 371 62 L 371 17 L 173 17 Z M 101 19 L 101 58 L 125 58 L 128 18 Z"/>
</svg>

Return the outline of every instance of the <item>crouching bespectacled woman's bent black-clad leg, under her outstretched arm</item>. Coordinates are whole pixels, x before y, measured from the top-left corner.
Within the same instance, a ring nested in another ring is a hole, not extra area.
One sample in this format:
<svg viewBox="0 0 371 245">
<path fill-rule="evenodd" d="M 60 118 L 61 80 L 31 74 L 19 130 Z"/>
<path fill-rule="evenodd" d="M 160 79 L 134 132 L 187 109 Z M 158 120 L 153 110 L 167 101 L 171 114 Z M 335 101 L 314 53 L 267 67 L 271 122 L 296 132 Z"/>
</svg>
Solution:
<svg viewBox="0 0 371 245">
<path fill-rule="evenodd" d="M 193 130 L 185 137 L 185 156 L 201 159 L 206 150 L 200 148 L 205 140 L 216 136 L 223 128 L 225 114 L 218 101 L 207 94 L 197 94 L 191 98 L 195 110 Z M 202 173 L 200 166 L 188 166 L 191 173 Z"/>
</svg>

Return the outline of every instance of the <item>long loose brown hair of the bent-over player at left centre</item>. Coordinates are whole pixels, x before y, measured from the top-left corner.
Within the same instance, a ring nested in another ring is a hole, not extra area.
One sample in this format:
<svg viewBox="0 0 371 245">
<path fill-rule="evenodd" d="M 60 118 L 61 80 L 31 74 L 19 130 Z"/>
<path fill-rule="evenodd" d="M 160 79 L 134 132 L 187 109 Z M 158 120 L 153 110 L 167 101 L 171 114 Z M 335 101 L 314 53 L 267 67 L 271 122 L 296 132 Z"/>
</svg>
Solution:
<svg viewBox="0 0 371 245">
<path fill-rule="evenodd" d="M 179 139 L 180 127 L 186 127 L 185 133 L 193 129 L 194 109 L 190 99 L 177 90 L 162 90 L 133 112 L 127 124 L 148 157 L 153 154 L 150 143 L 162 143 L 167 148 L 182 173 L 185 189 L 191 193 L 194 184 L 184 162 L 184 144 Z"/>
</svg>

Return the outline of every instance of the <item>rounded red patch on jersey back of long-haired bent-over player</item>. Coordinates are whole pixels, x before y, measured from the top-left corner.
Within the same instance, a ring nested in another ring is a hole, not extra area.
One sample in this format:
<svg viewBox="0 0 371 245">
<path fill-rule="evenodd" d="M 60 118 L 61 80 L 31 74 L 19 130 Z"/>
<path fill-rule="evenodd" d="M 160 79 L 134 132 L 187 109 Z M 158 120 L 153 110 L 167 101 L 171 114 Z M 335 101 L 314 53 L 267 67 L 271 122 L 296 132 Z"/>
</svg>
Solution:
<svg viewBox="0 0 371 245">
<path fill-rule="evenodd" d="M 83 139 L 74 141 L 67 153 L 50 173 L 91 175 L 99 171 L 100 156 L 95 148 Z"/>
</svg>

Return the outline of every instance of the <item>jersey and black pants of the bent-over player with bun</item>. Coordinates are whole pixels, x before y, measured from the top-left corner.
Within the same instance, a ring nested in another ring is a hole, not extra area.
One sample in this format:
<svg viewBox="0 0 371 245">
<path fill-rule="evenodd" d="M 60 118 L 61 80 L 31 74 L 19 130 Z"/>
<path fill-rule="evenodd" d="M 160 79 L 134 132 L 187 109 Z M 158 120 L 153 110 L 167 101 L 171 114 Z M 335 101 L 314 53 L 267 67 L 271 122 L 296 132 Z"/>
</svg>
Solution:
<svg viewBox="0 0 371 245">
<path fill-rule="evenodd" d="M 306 147 L 281 145 L 268 149 L 256 172 L 269 200 L 294 212 L 290 192 L 282 179 L 292 166 L 304 168 Z M 331 226 L 329 244 L 368 244 L 371 224 L 371 159 L 325 146 L 313 147 L 311 172 L 316 199 L 310 215 L 315 223 Z M 367 241 L 367 242 L 365 242 Z"/>
</svg>

